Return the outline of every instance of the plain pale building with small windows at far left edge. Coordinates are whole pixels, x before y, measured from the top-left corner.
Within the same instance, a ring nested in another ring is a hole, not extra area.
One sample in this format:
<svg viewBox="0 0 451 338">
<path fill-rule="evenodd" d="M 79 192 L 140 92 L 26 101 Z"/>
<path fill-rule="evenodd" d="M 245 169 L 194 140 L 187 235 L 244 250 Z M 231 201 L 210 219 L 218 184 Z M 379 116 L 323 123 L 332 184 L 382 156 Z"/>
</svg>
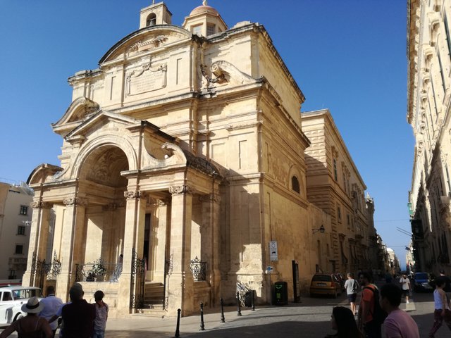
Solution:
<svg viewBox="0 0 451 338">
<path fill-rule="evenodd" d="M 0 280 L 21 280 L 27 268 L 33 192 L 0 182 Z"/>
</svg>

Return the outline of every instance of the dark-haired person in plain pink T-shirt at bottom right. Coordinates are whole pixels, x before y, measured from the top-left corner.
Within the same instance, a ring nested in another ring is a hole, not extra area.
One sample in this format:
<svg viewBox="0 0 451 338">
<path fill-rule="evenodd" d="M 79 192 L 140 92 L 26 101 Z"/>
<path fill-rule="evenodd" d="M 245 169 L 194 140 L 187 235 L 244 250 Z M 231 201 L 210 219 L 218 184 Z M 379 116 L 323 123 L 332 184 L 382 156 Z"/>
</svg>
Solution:
<svg viewBox="0 0 451 338">
<path fill-rule="evenodd" d="M 402 291 L 395 284 L 381 287 L 381 308 L 388 313 L 383 322 L 385 338 L 420 338 L 418 325 L 407 312 L 400 309 Z"/>
</svg>

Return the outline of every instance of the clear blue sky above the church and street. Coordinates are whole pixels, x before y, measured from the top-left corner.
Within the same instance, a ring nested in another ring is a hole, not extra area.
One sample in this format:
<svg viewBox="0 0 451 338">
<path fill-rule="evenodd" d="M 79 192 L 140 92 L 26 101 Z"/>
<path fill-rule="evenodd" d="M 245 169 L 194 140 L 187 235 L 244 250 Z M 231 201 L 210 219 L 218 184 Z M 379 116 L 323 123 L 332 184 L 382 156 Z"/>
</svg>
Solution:
<svg viewBox="0 0 451 338">
<path fill-rule="evenodd" d="M 159 1 L 156 1 L 159 2 Z M 181 25 L 201 0 L 167 0 Z M 71 101 L 67 78 L 97 68 L 138 29 L 152 0 L 0 0 L 0 180 L 26 181 L 59 164 L 51 130 Z M 306 96 L 302 111 L 329 108 L 369 194 L 376 229 L 402 262 L 414 139 L 406 122 L 407 4 L 404 0 L 209 0 L 229 27 L 266 27 Z"/>
</svg>

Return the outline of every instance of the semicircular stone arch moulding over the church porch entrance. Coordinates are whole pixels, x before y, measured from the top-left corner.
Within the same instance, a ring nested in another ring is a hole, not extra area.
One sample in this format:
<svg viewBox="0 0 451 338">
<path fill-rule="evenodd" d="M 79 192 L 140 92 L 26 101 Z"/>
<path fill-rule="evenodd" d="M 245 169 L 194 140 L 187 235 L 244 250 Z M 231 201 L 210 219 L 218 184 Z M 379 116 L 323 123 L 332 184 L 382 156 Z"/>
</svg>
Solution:
<svg viewBox="0 0 451 338">
<path fill-rule="evenodd" d="M 131 142 L 123 136 L 121 137 L 120 135 L 108 134 L 97 137 L 82 147 L 82 150 L 78 153 L 77 158 L 75 158 L 75 165 L 73 166 L 70 176 L 73 178 L 80 177 L 85 161 L 87 161 L 89 156 L 91 156 L 94 151 L 96 151 L 97 154 L 100 154 L 101 152 L 109 151 L 109 149 L 113 148 L 121 149 L 121 151 L 125 154 L 128 161 L 127 170 L 137 170 L 137 154 Z M 113 156 L 112 151 L 110 151 L 109 156 Z"/>
</svg>

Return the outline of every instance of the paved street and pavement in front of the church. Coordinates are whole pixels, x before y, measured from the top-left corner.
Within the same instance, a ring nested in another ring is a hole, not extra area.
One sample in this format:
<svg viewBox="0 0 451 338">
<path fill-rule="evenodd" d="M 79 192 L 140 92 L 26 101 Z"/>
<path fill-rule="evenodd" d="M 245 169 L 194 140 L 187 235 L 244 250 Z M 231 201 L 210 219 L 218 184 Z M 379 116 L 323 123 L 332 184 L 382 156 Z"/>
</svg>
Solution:
<svg viewBox="0 0 451 338">
<path fill-rule="evenodd" d="M 407 311 L 419 325 L 421 337 L 428 337 L 433 323 L 433 296 L 414 294 L 414 301 L 408 304 Z M 257 307 L 255 311 L 242 309 L 237 316 L 236 307 L 225 310 L 226 323 L 221 323 L 219 309 L 205 309 L 204 331 L 200 331 L 199 315 L 180 320 L 181 338 L 225 338 L 225 337 L 319 337 L 330 330 L 330 313 L 333 306 L 347 306 L 345 295 L 338 299 L 302 298 L 302 303 L 290 303 L 288 306 Z M 406 309 L 406 304 L 401 306 Z M 110 318 L 107 323 L 107 338 L 171 338 L 175 335 L 175 318 L 149 318 L 135 315 L 131 319 Z M 450 337 L 450 330 L 444 325 L 435 335 L 437 338 Z M 17 337 L 16 334 L 10 337 Z"/>
</svg>

